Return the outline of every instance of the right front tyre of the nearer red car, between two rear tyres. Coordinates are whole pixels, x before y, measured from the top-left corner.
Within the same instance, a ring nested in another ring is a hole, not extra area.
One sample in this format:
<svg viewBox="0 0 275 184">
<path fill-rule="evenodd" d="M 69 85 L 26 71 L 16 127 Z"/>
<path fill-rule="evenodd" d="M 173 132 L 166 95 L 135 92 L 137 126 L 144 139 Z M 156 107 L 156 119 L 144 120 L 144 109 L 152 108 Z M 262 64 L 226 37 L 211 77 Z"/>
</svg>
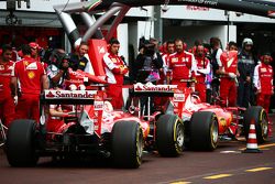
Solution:
<svg viewBox="0 0 275 184">
<path fill-rule="evenodd" d="M 163 115 L 156 122 L 156 148 L 162 156 L 177 156 L 184 148 L 184 123 L 176 115 Z"/>
</svg>

